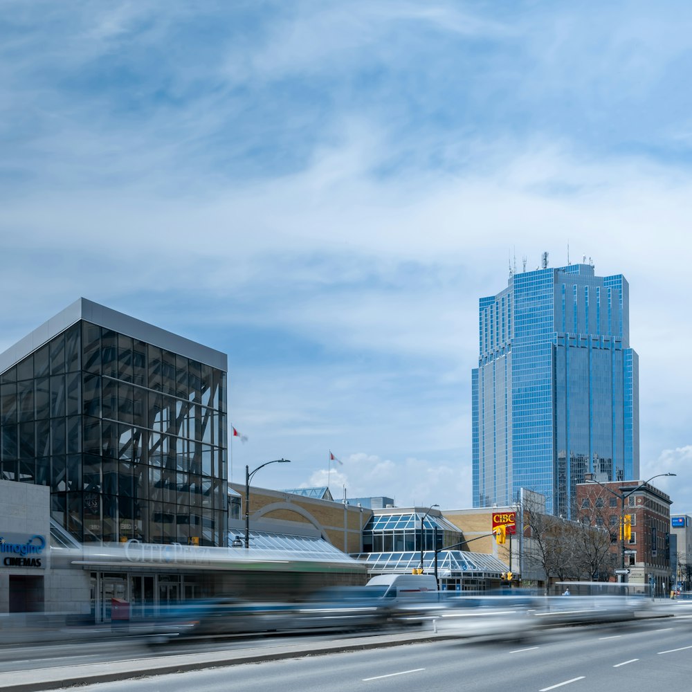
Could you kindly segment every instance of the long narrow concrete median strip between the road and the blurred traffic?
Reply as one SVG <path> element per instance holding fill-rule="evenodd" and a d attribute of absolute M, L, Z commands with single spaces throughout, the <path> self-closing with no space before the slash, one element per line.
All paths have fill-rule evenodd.
<path fill-rule="evenodd" d="M 102 662 L 55 668 L 39 668 L 35 671 L 12 671 L 0 673 L 0 692 L 39 692 L 55 690 L 74 685 L 95 684 L 128 680 L 144 675 L 167 675 L 197 671 L 203 668 L 237 666 L 245 663 L 261 663 L 305 655 L 334 653 L 336 651 L 358 651 L 401 644 L 421 644 L 437 639 L 452 639 L 438 635 L 432 628 L 397 634 L 375 635 L 372 637 L 353 637 L 336 641 L 300 641 L 294 644 L 275 644 L 254 646 L 237 650 L 215 651 L 212 653 L 190 653 L 175 657 L 150 657 L 118 662 Z M 233 644 L 229 644 L 233 646 Z"/>

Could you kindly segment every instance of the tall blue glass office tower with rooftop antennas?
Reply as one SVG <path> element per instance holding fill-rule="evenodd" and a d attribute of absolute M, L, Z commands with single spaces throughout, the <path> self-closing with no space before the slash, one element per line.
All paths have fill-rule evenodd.
<path fill-rule="evenodd" d="M 576 483 L 639 476 L 638 357 L 622 275 L 590 264 L 514 273 L 479 305 L 473 506 L 518 489 L 572 515 Z"/>

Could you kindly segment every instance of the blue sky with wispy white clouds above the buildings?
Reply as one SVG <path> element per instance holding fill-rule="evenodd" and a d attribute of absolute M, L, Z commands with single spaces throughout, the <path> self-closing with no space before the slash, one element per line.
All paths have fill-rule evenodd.
<path fill-rule="evenodd" d="M 478 299 L 569 252 L 630 284 L 640 476 L 692 511 L 691 21 L 5 0 L 0 351 L 89 298 L 228 354 L 234 481 L 459 509 Z"/>

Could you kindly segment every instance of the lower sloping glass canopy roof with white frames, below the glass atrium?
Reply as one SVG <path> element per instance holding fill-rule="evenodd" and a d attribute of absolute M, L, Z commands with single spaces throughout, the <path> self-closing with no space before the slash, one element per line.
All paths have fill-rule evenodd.
<path fill-rule="evenodd" d="M 408 574 L 414 567 L 421 566 L 421 552 L 409 551 L 399 553 L 353 553 L 354 558 L 367 564 L 372 572 L 399 572 Z M 423 554 L 423 569 L 432 572 L 435 569 L 435 552 L 428 550 Z M 440 576 L 449 576 L 469 572 L 483 576 L 500 576 L 507 572 L 507 565 L 492 555 L 471 553 L 463 550 L 443 550 L 437 555 L 437 572 Z"/>

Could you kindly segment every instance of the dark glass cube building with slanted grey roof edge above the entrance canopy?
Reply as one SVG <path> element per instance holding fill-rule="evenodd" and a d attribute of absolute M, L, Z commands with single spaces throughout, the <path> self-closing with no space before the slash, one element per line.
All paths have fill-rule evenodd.
<path fill-rule="evenodd" d="M 0 354 L 0 473 L 83 543 L 228 545 L 226 354 L 84 298 Z"/>

